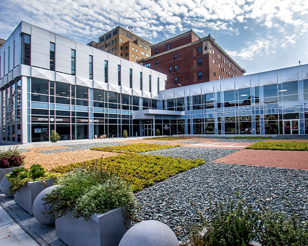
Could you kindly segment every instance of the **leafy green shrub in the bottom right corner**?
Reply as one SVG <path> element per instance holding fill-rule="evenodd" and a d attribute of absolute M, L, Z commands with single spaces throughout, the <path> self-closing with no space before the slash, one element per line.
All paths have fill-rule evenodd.
<path fill-rule="evenodd" d="M 258 241 L 262 246 L 304 246 L 308 245 L 308 223 L 303 223 L 301 216 L 291 213 L 273 211 L 271 208 L 262 208 L 258 228 Z"/>

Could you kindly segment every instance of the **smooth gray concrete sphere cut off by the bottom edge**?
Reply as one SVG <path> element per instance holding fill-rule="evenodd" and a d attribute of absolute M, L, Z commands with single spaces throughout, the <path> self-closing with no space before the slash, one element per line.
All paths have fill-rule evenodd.
<path fill-rule="evenodd" d="M 179 241 L 166 224 L 145 220 L 130 228 L 119 246 L 179 246 Z"/>

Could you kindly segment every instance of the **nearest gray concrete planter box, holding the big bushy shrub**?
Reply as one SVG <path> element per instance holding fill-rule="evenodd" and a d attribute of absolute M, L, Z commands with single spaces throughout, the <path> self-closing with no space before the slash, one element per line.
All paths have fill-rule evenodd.
<path fill-rule="evenodd" d="M 129 226 L 122 208 L 93 214 L 88 221 L 74 218 L 72 211 L 55 220 L 56 235 L 69 246 L 118 246 Z"/>

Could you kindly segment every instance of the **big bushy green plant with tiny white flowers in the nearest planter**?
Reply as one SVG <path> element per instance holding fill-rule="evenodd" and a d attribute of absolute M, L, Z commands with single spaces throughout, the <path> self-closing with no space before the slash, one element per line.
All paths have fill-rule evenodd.
<path fill-rule="evenodd" d="M 43 198 L 44 204 L 52 207 L 52 211 L 45 212 L 54 213 L 54 218 L 73 210 L 75 218 L 88 220 L 91 214 L 134 206 L 134 196 L 129 186 L 102 169 L 76 169 L 61 176 L 57 185 L 61 186 Z"/>

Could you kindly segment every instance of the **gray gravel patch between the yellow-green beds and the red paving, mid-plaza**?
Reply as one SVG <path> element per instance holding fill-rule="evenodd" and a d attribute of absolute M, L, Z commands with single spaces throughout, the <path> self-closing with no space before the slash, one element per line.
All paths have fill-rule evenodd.
<path fill-rule="evenodd" d="M 143 152 L 140 154 L 146 155 L 161 155 L 179 157 L 185 160 L 188 159 L 203 159 L 205 162 L 213 161 L 223 156 L 239 151 L 239 149 L 211 149 L 211 148 L 195 148 L 195 147 L 176 147 L 163 150 L 155 150 Z"/>

